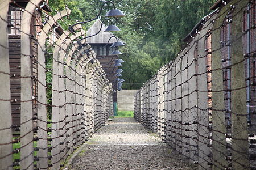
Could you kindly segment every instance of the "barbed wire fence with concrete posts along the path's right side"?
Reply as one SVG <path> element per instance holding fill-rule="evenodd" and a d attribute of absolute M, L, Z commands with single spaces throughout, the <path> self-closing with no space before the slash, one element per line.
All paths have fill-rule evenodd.
<path fill-rule="evenodd" d="M 198 169 L 256 169 L 255 1 L 222 2 L 134 96 L 134 117 Z"/>

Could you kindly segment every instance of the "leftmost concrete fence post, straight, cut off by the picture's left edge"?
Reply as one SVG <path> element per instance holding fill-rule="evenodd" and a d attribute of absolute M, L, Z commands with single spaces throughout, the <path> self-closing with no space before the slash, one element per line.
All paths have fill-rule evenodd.
<path fill-rule="evenodd" d="M 11 141 L 11 91 L 10 91 L 10 69 L 9 69 L 9 45 L 8 45 L 8 23 L 7 20 L 9 1 L 0 1 L 0 169 L 13 169 L 13 146 Z M 7 143 L 7 144 L 5 144 Z"/>

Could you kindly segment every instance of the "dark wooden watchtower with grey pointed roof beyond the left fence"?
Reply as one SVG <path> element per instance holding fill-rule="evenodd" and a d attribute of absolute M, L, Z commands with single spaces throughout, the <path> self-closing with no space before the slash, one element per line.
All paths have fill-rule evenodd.
<path fill-rule="evenodd" d="M 106 26 L 102 24 L 102 28 L 101 28 L 101 24 L 102 24 L 101 20 L 97 19 L 96 22 L 94 22 L 94 24 L 92 25 L 92 27 L 88 29 L 88 31 L 86 32 L 86 36 L 92 36 L 92 35 L 95 35 L 98 31 L 100 32 L 96 36 L 88 37 L 86 39 L 86 42 L 92 46 L 92 49 L 95 51 L 97 55 L 98 61 L 100 61 L 102 65 L 102 69 L 107 74 L 107 78 L 110 80 L 110 82 L 112 82 L 113 90 L 116 91 L 113 94 L 113 102 L 117 103 L 118 90 L 117 90 L 117 81 L 115 80 L 117 78 L 115 77 L 115 71 L 117 70 L 117 67 L 114 67 L 114 60 L 117 59 L 118 57 L 109 56 L 109 54 L 112 53 L 114 50 L 114 48 L 111 48 L 110 46 L 117 40 L 114 37 L 112 37 L 114 36 L 113 33 L 104 32 L 106 29 Z M 112 39 L 110 39 L 110 37 L 112 37 Z M 118 39 L 118 41 L 123 42 L 120 39 Z M 106 47 L 104 48 L 104 46 Z M 100 49 L 100 50 L 97 50 L 97 49 Z"/>

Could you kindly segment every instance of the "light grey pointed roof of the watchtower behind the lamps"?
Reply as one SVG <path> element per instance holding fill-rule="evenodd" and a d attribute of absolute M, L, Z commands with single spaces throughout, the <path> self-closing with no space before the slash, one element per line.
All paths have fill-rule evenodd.
<path fill-rule="evenodd" d="M 86 31 L 86 36 L 91 36 L 91 35 L 96 34 L 100 30 L 101 24 L 102 24 L 101 20 L 97 19 L 96 22 L 93 23 L 92 27 L 90 27 L 88 29 L 88 31 Z M 107 44 L 109 41 L 109 38 L 114 35 L 111 32 L 104 32 L 105 29 L 106 29 L 106 26 L 104 24 L 102 24 L 100 33 L 98 33 L 96 36 L 87 38 L 86 42 L 88 44 Z M 118 41 L 123 42 L 121 39 L 118 39 Z M 116 40 L 115 40 L 115 38 L 112 38 L 112 39 L 110 39 L 109 44 L 113 44 L 114 42 L 116 42 Z M 125 43 L 125 42 L 123 42 L 123 43 Z"/>

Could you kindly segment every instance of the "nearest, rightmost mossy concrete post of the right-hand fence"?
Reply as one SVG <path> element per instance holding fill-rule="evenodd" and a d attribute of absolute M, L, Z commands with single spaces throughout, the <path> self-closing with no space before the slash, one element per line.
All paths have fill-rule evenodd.
<path fill-rule="evenodd" d="M 236 1 L 236 2 L 238 2 L 238 5 L 234 10 L 235 14 L 236 12 L 243 10 L 243 8 L 247 4 L 246 1 Z M 255 3 L 254 3 L 253 10 L 255 15 Z M 255 16 L 254 16 L 254 19 L 255 19 Z M 249 131 L 247 126 L 247 111 L 246 111 L 247 107 L 245 105 L 246 90 L 243 88 L 245 87 L 245 66 L 244 66 L 244 63 L 241 62 L 244 59 L 243 46 L 241 45 L 243 44 L 242 31 L 241 31 L 243 29 L 242 28 L 243 15 L 242 14 L 234 15 L 232 20 L 235 20 L 239 23 L 239 24 L 236 22 L 231 23 L 231 28 L 232 28 L 231 39 L 237 40 L 232 42 L 231 63 L 232 64 L 238 63 L 237 65 L 233 65 L 231 69 L 231 88 L 239 89 L 239 90 L 233 90 L 231 95 L 232 168 L 249 170 L 251 168 L 250 168 L 250 161 L 249 161 L 249 143 L 248 143 Z"/>

